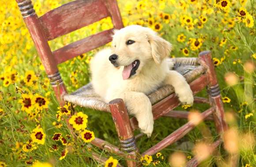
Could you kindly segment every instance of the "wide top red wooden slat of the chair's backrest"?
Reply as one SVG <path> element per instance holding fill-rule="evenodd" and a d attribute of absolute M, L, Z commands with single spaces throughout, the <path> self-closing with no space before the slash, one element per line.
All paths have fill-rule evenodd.
<path fill-rule="evenodd" d="M 53 40 L 109 15 L 103 0 L 75 0 L 47 12 L 39 19 L 47 40 Z"/>

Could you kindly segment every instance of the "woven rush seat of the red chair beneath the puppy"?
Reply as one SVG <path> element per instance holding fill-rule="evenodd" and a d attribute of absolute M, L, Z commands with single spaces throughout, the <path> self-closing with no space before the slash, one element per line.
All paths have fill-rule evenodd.
<path fill-rule="evenodd" d="M 172 58 L 172 61 L 174 63 L 173 70 L 181 73 L 188 83 L 192 82 L 206 71 L 205 67 L 200 65 L 198 58 Z M 173 86 L 165 85 L 148 95 L 148 98 L 151 104 L 154 105 L 172 93 L 174 93 Z M 105 103 L 102 98 L 94 92 L 91 83 L 79 88 L 71 94 L 65 94 L 64 100 L 86 108 L 110 112 L 109 104 Z"/>

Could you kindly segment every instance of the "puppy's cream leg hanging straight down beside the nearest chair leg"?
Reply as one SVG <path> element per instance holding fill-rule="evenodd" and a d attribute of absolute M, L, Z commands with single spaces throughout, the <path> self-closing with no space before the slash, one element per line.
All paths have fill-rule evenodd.
<path fill-rule="evenodd" d="M 154 120 L 149 98 L 141 92 L 129 91 L 123 94 L 123 99 L 128 113 L 136 117 L 141 131 L 150 137 L 154 128 Z"/>

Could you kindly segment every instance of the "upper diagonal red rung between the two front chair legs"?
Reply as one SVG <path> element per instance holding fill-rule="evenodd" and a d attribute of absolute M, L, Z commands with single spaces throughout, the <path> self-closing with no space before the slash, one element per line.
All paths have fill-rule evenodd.
<path fill-rule="evenodd" d="M 204 120 L 207 116 L 211 115 L 215 111 L 214 107 L 211 107 L 210 109 L 207 109 L 203 113 L 201 113 L 201 119 Z M 188 123 L 185 123 L 182 127 L 174 131 L 173 133 L 169 134 L 166 138 L 164 138 L 162 141 L 158 142 L 158 144 L 154 145 L 147 151 L 143 152 L 142 155 L 154 155 L 158 151 L 166 148 L 168 145 L 173 144 L 177 140 L 181 139 L 184 135 L 186 135 L 189 131 L 191 131 L 195 125 L 189 121 Z"/>

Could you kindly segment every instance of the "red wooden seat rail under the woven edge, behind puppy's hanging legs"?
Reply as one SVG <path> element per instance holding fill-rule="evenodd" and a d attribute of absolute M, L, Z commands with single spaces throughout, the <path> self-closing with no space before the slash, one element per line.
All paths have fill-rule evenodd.
<path fill-rule="evenodd" d="M 189 85 L 191 90 L 193 91 L 193 94 L 196 94 L 202 91 L 207 84 L 208 84 L 207 76 L 206 74 L 203 74 L 196 80 L 192 81 Z M 152 113 L 154 116 L 154 120 L 157 120 L 162 115 L 169 113 L 169 111 L 173 110 L 178 105 L 180 105 L 180 101 L 175 93 L 164 98 L 162 101 L 152 106 Z M 136 120 L 136 118 L 132 117 L 130 121 L 132 124 L 132 129 L 133 130 L 138 129 L 138 121 Z"/>

